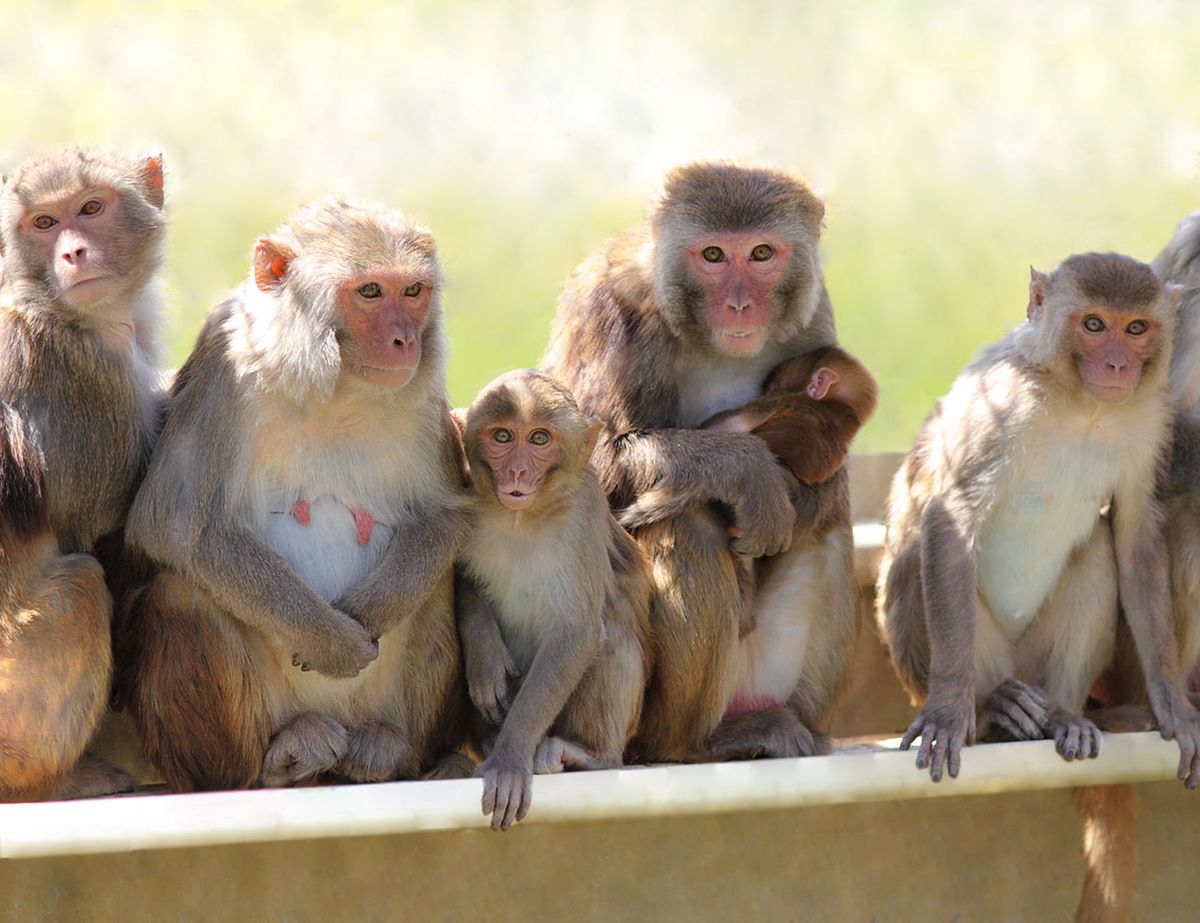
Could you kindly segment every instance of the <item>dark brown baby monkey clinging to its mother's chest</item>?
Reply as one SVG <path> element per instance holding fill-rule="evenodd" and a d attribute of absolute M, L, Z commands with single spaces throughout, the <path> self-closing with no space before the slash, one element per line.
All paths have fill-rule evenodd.
<path fill-rule="evenodd" d="M 836 346 L 785 360 L 763 396 L 704 421 L 703 428 L 751 432 L 809 486 L 829 480 L 875 413 L 878 386 L 866 366 Z"/>

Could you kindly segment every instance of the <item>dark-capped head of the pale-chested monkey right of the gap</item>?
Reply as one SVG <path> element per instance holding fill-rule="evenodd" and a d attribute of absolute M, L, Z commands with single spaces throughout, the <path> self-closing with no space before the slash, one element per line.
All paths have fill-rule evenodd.
<path fill-rule="evenodd" d="M 1018 346 L 1058 382 L 1124 403 L 1165 382 L 1180 289 L 1118 253 L 1068 257 L 1050 275 L 1030 269 L 1028 320 Z"/>

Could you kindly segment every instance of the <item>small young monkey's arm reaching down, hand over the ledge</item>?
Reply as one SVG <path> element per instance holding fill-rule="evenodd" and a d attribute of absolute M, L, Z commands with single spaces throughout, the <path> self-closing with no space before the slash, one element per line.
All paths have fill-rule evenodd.
<path fill-rule="evenodd" d="M 600 612 L 564 612 L 538 648 L 491 755 L 479 767 L 484 814 L 508 829 L 529 813 L 538 744 L 583 679 L 601 645 Z"/>

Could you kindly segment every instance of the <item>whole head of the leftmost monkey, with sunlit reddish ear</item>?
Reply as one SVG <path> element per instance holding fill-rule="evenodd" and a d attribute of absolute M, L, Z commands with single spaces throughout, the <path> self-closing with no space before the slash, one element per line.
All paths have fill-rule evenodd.
<path fill-rule="evenodd" d="M 25 161 L 0 193 L 0 254 L 16 290 L 84 317 L 116 308 L 158 272 L 162 156 L 71 149 Z"/>

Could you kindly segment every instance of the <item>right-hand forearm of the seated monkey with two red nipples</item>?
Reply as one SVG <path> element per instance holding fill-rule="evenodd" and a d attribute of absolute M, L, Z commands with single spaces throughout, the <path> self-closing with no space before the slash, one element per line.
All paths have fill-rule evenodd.
<path fill-rule="evenodd" d="M 470 514 L 455 497 L 408 513 L 379 563 L 334 606 L 378 640 L 425 605 L 454 567 L 469 531 Z"/>

